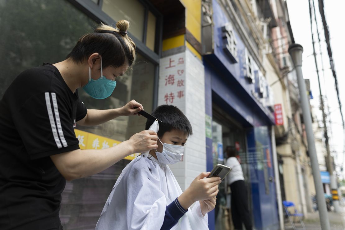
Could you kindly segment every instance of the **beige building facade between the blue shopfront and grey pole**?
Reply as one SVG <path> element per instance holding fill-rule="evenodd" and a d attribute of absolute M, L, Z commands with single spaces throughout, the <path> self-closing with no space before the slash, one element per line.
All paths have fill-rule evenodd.
<path fill-rule="evenodd" d="M 306 133 L 300 105 L 297 75 L 288 53 L 289 44 L 294 37 L 289 22 L 286 1 L 270 1 L 277 21 L 272 29 L 273 55 L 280 71 L 280 81 L 284 86 L 284 110 L 286 126 L 276 128 L 276 144 L 279 161 L 280 185 L 282 200 L 293 201 L 297 209 L 307 216 L 313 212 L 312 196 L 315 194 L 311 164 L 308 156 Z M 306 81 L 307 86 L 308 81 Z M 282 91 L 282 89 L 276 88 Z M 311 96 L 308 89 L 306 92 Z M 278 96 L 279 97 L 281 95 Z M 312 96 L 310 97 L 312 98 Z"/>

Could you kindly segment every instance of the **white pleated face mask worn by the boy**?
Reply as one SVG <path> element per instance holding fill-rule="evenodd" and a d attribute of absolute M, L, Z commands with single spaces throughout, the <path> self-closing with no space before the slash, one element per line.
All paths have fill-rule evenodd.
<path fill-rule="evenodd" d="M 163 164 L 175 164 L 181 160 L 183 152 L 185 151 L 184 146 L 167 143 L 163 144 L 161 141 L 160 143 L 163 145 L 162 152 L 158 152 L 156 149 L 156 156 L 159 162 Z"/>

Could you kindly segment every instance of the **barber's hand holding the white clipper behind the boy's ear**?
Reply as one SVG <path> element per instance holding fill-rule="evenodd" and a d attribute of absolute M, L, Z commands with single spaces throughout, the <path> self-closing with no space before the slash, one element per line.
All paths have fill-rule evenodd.
<path fill-rule="evenodd" d="M 144 130 L 134 134 L 128 142 L 133 148 L 133 153 L 146 152 L 151 149 L 157 149 L 157 133 L 152 130 Z"/>

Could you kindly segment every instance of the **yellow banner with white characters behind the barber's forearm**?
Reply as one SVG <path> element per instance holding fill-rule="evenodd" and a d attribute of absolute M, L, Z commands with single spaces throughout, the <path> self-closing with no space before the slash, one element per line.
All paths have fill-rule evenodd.
<path fill-rule="evenodd" d="M 75 129 L 74 132 L 76 133 L 76 137 L 79 140 L 79 147 L 80 149 L 107 149 L 109 147 L 116 146 L 117 144 L 121 143 L 121 141 L 113 140 L 110 138 L 102 137 L 90 132 L 81 131 Z M 134 153 L 125 157 L 126 160 L 133 160 L 140 153 Z"/>

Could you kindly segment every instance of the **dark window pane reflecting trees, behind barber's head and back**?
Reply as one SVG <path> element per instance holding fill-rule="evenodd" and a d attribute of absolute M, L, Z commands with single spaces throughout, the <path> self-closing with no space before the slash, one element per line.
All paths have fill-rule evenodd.
<path fill-rule="evenodd" d="M 0 21 L 0 99 L 20 72 L 64 60 L 95 25 L 66 0 L 1 1 Z"/>

